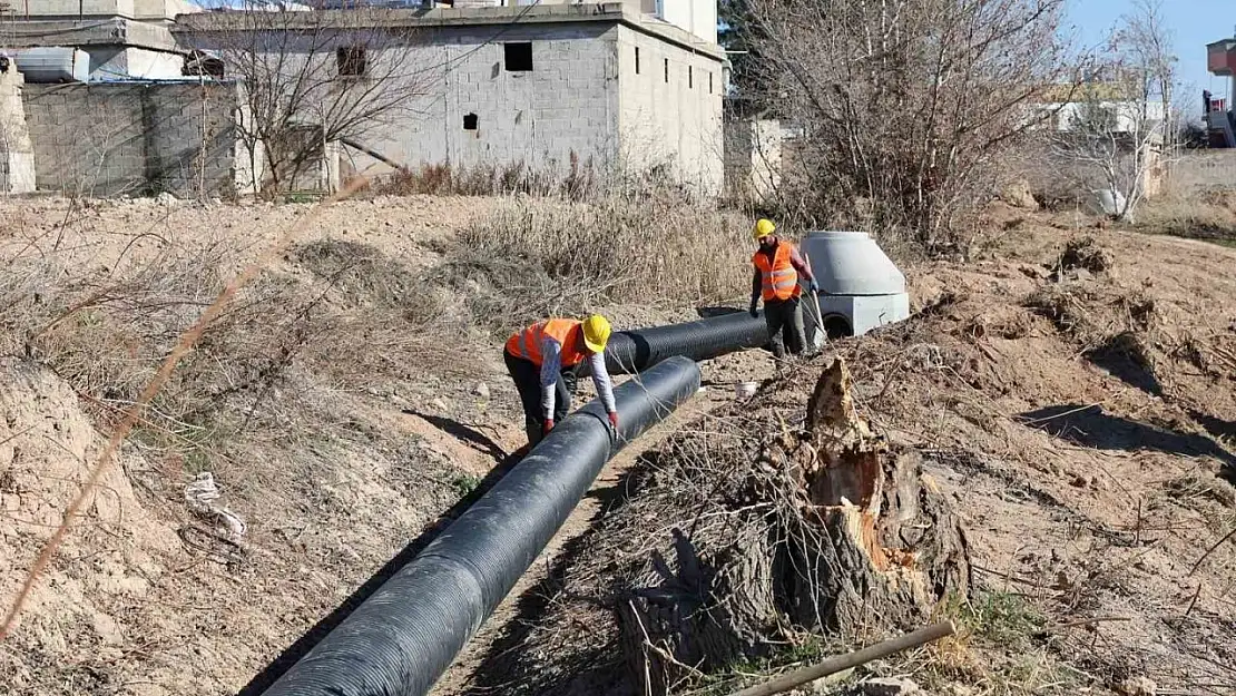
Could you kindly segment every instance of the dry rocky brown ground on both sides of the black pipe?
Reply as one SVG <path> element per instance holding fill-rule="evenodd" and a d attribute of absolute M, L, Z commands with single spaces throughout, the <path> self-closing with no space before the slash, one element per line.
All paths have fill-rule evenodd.
<path fill-rule="evenodd" d="M 272 659 L 475 494 L 522 425 L 501 326 L 476 315 L 498 304 L 470 304 L 442 261 L 450 240 L 510 205 L 5 202 L 6 603 L 176 336 L 247 263 L 266 267 L 105 470 L 0 643 L 6 692 L 256 694 Z M 1229 692 L 1236 252 L 1047 214 L 1000 210 L 991 225 L 1000 234 L 976 261 L 907 268 L 911 321 L 784 378 L 761 352 L 706 366 L 705 394 L 613 464 L 436 692 L 510 692 L 527 670 L 612 648 L 606 598 L 576 593 L 571 569 L 633 543 L 607 537 L 629 507 L 613 491 L 623 472 L 653 466 L 641 455 L 670 435 L 716 433 L 735 408 L 768 428 L 801 419 L 837 355 L 860 412 L 922 451 L 950 497 L 978 586 L 962 612 L 971 634 L 873 674 L 953 694 L 1136 679 L 1159 694 Z M 603 309 L 649 325 L 692 304 Z M 735 407 L 733 383 L 747 380 L 764 388 Z M 224 493 L 214 504 L 247 527 L 240 540 L 187 501 L 206 471 Z M 648 541 L 674 522 L 654 520 Z M 586 619 L 571 628 L 567 616 Z M 529 660 L 498 659 L 510 653 Z"/>

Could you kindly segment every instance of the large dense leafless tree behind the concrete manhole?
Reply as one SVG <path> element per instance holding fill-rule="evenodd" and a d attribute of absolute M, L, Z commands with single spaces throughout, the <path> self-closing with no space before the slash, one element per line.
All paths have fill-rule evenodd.
<path fill-rule="evenodd" d="M 803 130 L 806 224 L 952 247 L 1001 156 L 1051 117 L 1037 94 L 1075 82 L 1064 0 L 743 1 L 759 46 L 745 88 Z"/>

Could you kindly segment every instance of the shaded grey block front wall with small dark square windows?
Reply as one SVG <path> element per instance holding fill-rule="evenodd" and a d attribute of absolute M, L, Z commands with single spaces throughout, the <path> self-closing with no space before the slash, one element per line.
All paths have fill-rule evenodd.
<path fill-rule="evenodd" d="M 614 32 L 612 26 L 513 26 L 493 42 L 489 27 L 439 30 L 431 42 L 394 58 L 407 66 L 400 72 L 418 73 L 423 95 L 360 140 L 410 168 L 522 163 L 565 173 L 574 155 L 581 164 L 607 169 L 618 151 Z M 507 43 L 531 43 L 531 70 L 507 69 Z M 470 115 L 475 130 L 465 129 Z M 350 158 L 357 171 L 388 169 L 361 153 Z"/>

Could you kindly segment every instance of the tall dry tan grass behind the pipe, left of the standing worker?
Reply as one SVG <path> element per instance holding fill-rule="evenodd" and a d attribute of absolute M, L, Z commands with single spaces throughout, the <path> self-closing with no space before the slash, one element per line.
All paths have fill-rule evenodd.
<path fill-rule="evenodd" d="M 669 192 L 590 204 L 523 203 L 482 219 L 445 251 L 477 324 L 604 304 L 691 307 L 745 298 L 749 223 Z"/>

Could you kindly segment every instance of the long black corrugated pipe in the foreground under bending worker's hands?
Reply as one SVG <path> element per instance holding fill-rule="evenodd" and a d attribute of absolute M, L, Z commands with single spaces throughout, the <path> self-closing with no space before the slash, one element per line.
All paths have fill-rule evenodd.
<path fill-rule="evenodd" d="M 671 357 L 614 389 L 622 414 L 617 434 L 597 401 L 566 417 L 263 696 L 426 694 L 606 461 L 698 389 L 695 361 Z"/>

